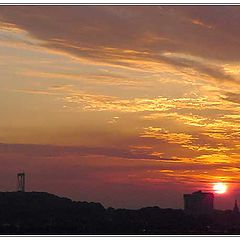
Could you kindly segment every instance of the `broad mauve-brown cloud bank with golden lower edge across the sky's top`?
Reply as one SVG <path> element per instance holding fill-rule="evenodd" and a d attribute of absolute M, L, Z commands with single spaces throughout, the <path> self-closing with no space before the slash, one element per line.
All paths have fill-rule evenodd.
<path fill-rule="evenodd" d="M 137 67 L 135 61 L 144 60 L 148 65 L 164 62 L 235 82 L 217 61 L 240 60 L 234 41 L 236 8 L 215 7 L 210 13 L 197 7 L 31 7 L 30 14 L 28 7 L 2 7 L 0 16 L 8 28 L 17 26 L 41 39 L 42 45 L 80 58 L 129 67 Z M 219 18 L 221 13 L 227 13 L 231 28 Z M 51 24 L 48 16 L 52 16 Z M 148 21 L 143 21 L 145 17 Z M 163 55 L 165 52 L 190 57 L 170 58 Z M 195 57 L 202 61 L 195 61 Z"/>

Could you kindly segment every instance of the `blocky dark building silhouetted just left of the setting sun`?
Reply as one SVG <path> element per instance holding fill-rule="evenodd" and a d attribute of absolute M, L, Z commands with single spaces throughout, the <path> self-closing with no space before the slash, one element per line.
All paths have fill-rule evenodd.
<path fill-rule="evenodd" d="M 197 191 L 184 194 L 184 210 L 189 214 L 210 214 L 214 209 L 214 194 Z"/>

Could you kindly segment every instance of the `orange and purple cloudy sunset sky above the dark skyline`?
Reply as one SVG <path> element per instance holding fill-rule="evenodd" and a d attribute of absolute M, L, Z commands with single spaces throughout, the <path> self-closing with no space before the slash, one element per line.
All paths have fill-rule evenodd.
<path fill-rule="evenodd" d="M 240 6 L 0 6 L 0 191 L 105 207 L 240 200 Z"/>

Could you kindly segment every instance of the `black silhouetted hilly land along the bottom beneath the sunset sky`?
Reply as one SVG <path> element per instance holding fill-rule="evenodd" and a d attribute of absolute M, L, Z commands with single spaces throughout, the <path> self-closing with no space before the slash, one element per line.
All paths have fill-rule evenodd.
<path fill-rule="evenodd" d="M 105 209 L 45 192 L 0 192 L 0 234 L 240 234 L 240 216 L 148 207 Z"/>

